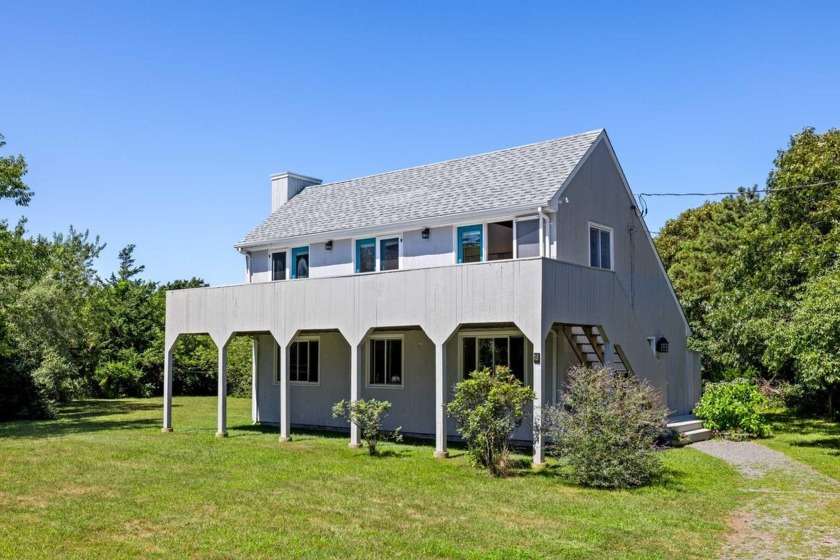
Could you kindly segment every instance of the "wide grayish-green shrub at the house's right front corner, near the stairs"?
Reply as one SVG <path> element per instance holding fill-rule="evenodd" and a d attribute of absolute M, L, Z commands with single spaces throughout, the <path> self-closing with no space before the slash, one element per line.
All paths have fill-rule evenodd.
<path fill-rule="evenodd" d="M 646 381 L 606 368 L 575 367 L 561 402 L 543 411 L 549 454 L 571 480 L 599 488 L 632 488 L 662 469 L 655 442 L 668 409 Z"/>

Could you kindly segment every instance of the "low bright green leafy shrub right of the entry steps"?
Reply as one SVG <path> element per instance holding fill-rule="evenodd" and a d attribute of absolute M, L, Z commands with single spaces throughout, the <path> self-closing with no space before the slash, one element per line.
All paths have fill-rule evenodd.
<path fill-rule="evenodd" d="M 758 387 L 746 379 L 707 383 L 694 414 L 703 426 L 727 437 L 765 437 L 770 426 L 759 413 L 767 399 Z"/>

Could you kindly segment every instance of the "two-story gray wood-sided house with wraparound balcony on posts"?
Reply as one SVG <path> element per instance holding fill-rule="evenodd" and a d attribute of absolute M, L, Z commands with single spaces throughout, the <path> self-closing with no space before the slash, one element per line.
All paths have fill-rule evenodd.
<path fill-rule="evenodd" d="M 241 285 L 167 293 L 164 430 L 172 349 L 208 333 L 254 340 L 253 420 L 342 428 L 341 399 L 393 403 L 386 428 L 457 434 L 453 385 L 504 364 L 545 403 L 577 363 L 650 380 L 675 413 L 699 397 L 699 356 L 604 130 L 322 184 L 271 177 L 271 214 L 236 248 Z M 544 461 L 534 438 L 534 462 Z M 350 433 L 359 445 L 359 433 Z"/>

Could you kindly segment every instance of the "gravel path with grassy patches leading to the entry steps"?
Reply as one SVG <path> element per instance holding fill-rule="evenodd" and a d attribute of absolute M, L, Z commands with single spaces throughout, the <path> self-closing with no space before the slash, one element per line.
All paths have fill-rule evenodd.
<path fill-rule="evenodd" d="M 840 482 L 752 442 L 709 440 L 694 449 L 744 475 L 721 558 L 840 560 Z"/>

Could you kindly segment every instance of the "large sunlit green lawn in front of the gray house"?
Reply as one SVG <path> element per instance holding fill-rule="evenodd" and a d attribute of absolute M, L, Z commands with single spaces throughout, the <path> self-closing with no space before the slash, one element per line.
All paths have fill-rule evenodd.
<path fill-rule="evenodd" d="M 666 479 L 587 490 L 554 468 L 493 479 L 463 450 L 389 445 L 252 426 L 213 398 L 74 403 L 58 420 L 0 424 L 0 558 L 709 558 L 738 476 L 690 448 L 664 453 Z"/>

